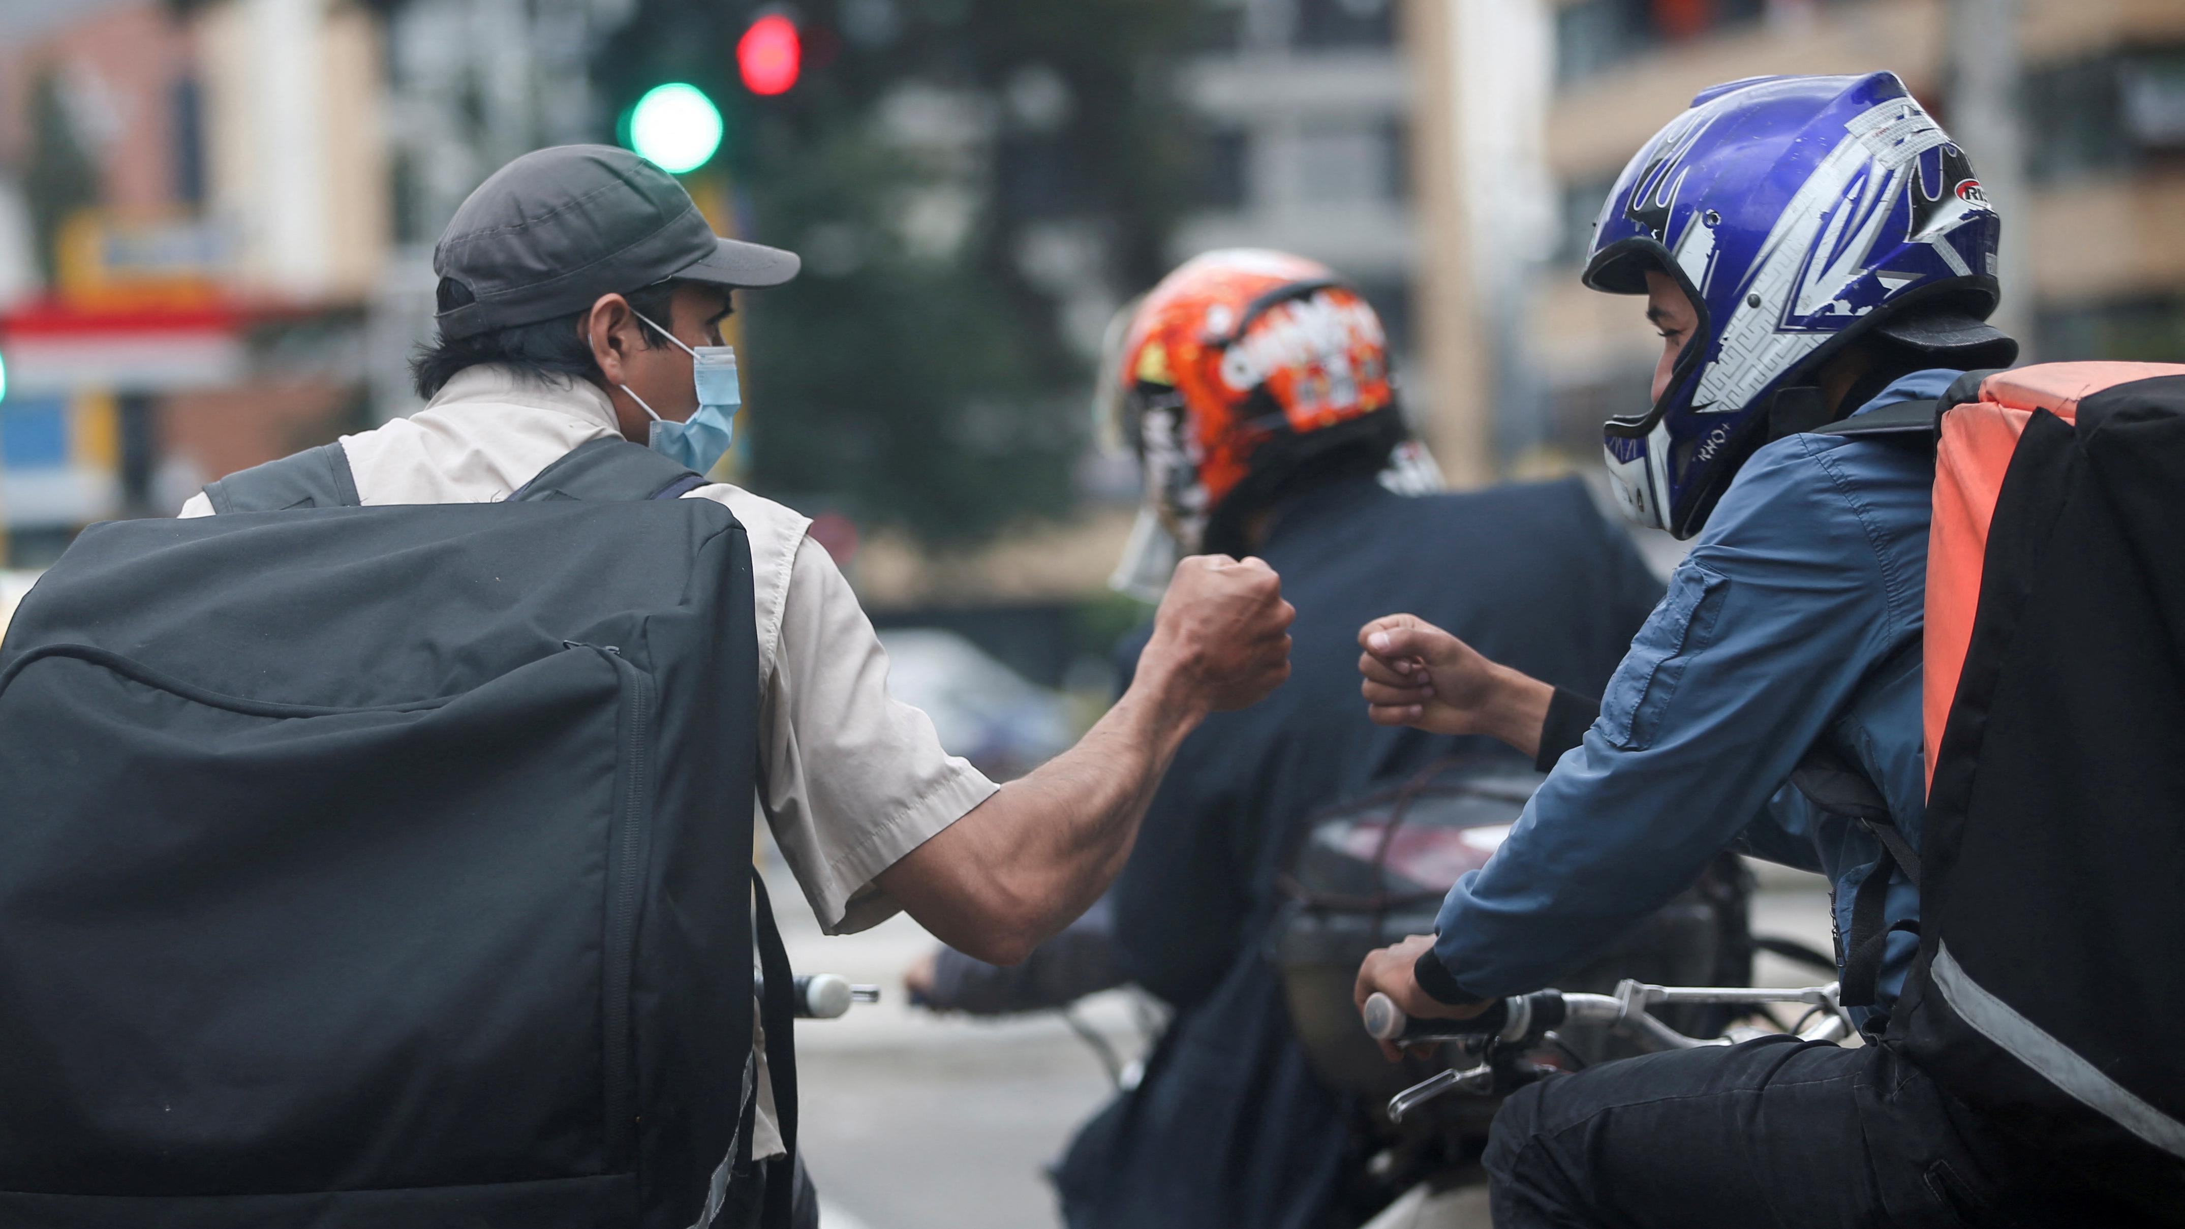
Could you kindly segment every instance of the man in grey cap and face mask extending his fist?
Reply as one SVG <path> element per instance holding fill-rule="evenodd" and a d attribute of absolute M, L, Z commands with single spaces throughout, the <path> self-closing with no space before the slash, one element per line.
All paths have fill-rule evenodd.
<path fill-rule="evenodd" d="M 430 405 L 339 444 L 363 505 L 503 501 L 614 437 L 704 475 L 741 400 L 719 335 L 730 295 L 787 282 L 798 258 L 717 238 L 631 153 L 559 147 L 479 186 L 433 267 L 439 339 L 413 363 Z M 728 505 L 749 536 L 758 805 L 828 934 L 905 910 L 961 951 L 1020 960 L 1123 866 L 1182 737 L 1289 674 L 1274 571 L 1184 560 L 1132 689 L 1077 748 L 996 787 L 889 698 L 881 643 L 804 516 L 728 483 L 684 499 Z M 210 512 L 205 494 L 184 507 Z M 778 1157 L 769 1082 L 754 1082 L 752 1155 Z"/>

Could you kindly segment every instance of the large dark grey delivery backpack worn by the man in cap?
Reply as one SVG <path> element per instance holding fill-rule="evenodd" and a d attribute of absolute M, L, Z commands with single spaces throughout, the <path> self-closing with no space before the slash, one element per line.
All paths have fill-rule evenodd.
<path fill-rule="evenodd" d="M 0 645 L 0 1225 L 710 1225 L 754 938 L 793 1148 L 697 481 L 605 440 L 350 507 L 336 444 L 83 531 Z"/>

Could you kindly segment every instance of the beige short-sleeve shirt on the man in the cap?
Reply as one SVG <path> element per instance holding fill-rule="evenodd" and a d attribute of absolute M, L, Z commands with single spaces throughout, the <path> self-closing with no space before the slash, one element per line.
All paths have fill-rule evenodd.
<path fill-rule="evenodd" d="M 415 415 L 343 435 L 341 448 L 365 505 L 492 503 L 577 444 L 616 433 L 614 407 L 590 383 L 481 365 Z M 900 905 L 874 877 L 996 787 L 942 750 L 924 713 L 887 693 L 887 652 L 835 560 L 806 536 L 811 520 L 728 483 L 684 499 L 725 503 L 752 540 L 758 807 L 773 842 L 828 934 L 878 925 Z M 212 503 L 197 494 L 181 514 L 210 516 Z M 758 1087 L 771 1111 L 767 1082 Z M 754 1144 L 760 1157 L 780 1150 L 771 1122 Z"/>

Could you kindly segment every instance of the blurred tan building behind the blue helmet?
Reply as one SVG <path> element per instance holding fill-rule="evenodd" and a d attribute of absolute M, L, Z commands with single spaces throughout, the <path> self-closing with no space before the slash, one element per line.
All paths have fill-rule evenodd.
<path fill-rule="evenodd" d="M 2001 317 L 2028 356 L 2185 359 L 2176 0 L 1416 0 L 1407 13 L 1422 348 L 1436 405 L 1488 407 L 1440 426 L 1471 433 L 1501 472 L 1591 468 L 1602 420 L 1645 398 L 1658 341 L 1632 302 L 1582 289 L 1578 265 L 1632 151 L 1739 77 L 1901 74 L 2006 219 Z"/>

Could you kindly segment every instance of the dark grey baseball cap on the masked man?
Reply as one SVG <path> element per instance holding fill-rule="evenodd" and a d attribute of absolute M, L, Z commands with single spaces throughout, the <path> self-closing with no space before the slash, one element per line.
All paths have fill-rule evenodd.
<path fill-rule="evenodd" d="M 433 247 L 439 335 L 535 324 L 669 278 L 778 286 L 780 247 L 721 238 L 673 175 L 612 144 L 557 144 L 509 162 L 454 210 Z"/>

